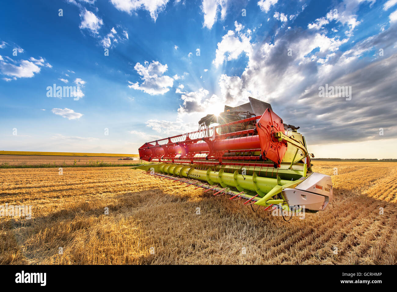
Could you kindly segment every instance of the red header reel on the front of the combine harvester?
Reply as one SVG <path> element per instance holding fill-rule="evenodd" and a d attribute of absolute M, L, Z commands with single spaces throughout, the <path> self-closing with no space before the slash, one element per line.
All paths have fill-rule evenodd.
<path fill-rule="evenodd" d="M 242 131 L 228 131 L 238 124 Z M 287 150 L 287 143 L 274 136 L 279 131 L 284 132 L 283 121 L 268 108 L 256 117 L 147 142 L 139 148 L 139 156 L 146 161 L 173 163 L 209 160 L 227 164 L 239 160 L 241 165 L 270 159 L 279 166 Z"/>

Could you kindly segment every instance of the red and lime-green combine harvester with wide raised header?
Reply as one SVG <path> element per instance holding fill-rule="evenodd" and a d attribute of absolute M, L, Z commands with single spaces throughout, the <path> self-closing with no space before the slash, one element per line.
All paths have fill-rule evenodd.
<path fill-rule="evenodd" d="M 313 213 L 328 207 L 331 177 L 312 172 L 314 155 L 299 127 L 283 123 L 270 104 L 250 97 L 198 123 L 198 131 L 142 145 L 140 158 L 156 163 L 134 168 L 268 211 Z"/>

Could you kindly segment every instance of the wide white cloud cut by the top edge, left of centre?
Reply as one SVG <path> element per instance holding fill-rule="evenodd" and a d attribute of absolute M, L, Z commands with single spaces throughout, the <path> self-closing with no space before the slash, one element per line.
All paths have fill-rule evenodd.
<path fill-rule="evenodd" d="M 131 14 L 143 9 L 150 13 L 150 17 L 156 21 L 158 14 L 166 8 L 169 0 L 110 0 L 114 7 L 120 11 Z"/>

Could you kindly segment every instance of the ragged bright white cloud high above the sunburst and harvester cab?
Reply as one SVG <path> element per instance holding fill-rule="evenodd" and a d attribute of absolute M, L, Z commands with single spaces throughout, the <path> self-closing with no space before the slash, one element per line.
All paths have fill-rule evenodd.
<path fill-rule="evenodd" d="M 237 21 L 235 21 L 234 24 L 236 27 L 235 30 L 228 31 L 227 34 L 222 37 L 222 41 L 218 42 L 215 59 L 212 61 L 216 67 L 222 65 L 225 60 L 230 61 L 237 59 L 243 52 L 247 55 L 252 54 L 250 31 L 242 33 L 244 27 L 237 23 Z"/>

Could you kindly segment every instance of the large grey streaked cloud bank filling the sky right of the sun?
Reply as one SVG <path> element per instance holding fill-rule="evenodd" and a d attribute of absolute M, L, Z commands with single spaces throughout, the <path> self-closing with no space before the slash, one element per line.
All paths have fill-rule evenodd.
<path fill-rule="evenodd" d="M 235 103 L 248 96 L 271 102 L 286 123 L 301 126 L 310 144 L 396 138 L 396 37 L 397 25 L 392 24 L 341 52 L 339 47 L 347 40 L 290 29 L 274 44 L 253 44 L 241 79 L 221 77 L 223 97 Z M 348 86 L 351 100 L 319 97 L 319 86 L 326 84 Z M 384 136 L 379 135 L 380 128 Z"/>

